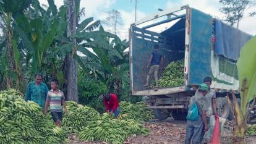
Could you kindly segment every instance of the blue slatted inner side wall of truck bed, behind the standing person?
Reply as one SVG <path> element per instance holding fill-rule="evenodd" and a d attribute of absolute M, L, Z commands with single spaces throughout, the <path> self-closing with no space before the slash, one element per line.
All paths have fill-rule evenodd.
<path fill-rule="evenodd" d="M 185 24 L 184 24 L 185 25 Z M 131 28 L 131 50 L 130 51 L 130 72 L 132 74 L 132 93 L 135 91 L 147 90 L 143 85 L 146 83 L 148 73 L 147 64 L 155 44 L 160 46 L 160 53 L 163 54 L 163 66 L 169 62 L 182 59 L 184 54 L 177 53 L 176 44 L 169 40 L 168 36 L 151 32 L 138 27 Z M 152 81 L 153 82 L 153 81 Z M 150 84 L 150 83 L 149 83 Z"/>

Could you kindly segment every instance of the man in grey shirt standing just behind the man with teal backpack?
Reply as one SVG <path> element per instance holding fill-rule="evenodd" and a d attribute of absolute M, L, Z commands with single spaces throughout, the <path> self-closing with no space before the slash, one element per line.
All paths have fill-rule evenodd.
<path fill-rule="evenodd" d="M 218 112 L 216 109 L 216 92 L 215 90 L 211 89 L 211 77 L 205 77 L 203 78 L 203 83 L 205 83 L 208 86 L 208 93 L 205 95 L 206 103 L 207 103 L 207 122 L 210 123 L 210 116 L 214 115 L 215 119 L 218 117 Z M 198 90 L 195 92 L 198 93 Z M 203 143 L 210 143 L 211 136 L 213 134 L 213 128 L 214 125 L 208 125 L 209 130 L 207 131 L 207 134 L 205 132 L 202 132 L 201 140 Z"/>

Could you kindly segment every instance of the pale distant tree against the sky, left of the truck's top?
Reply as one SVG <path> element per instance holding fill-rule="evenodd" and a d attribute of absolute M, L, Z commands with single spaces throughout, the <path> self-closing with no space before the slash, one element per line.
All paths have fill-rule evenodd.
<path fill-rule="evenodd" d="M 108 25 L 112 28 L 112 33 L 114 35 L 117 34 L 117 28 L 119 28 L 121 25 L 123 25 L 121 13 L 115 9 L 112 9 L 110 11 L 106 11 L 106 14 L 108 15 L 105 20 L 103 20 L 103 23 Z"/>

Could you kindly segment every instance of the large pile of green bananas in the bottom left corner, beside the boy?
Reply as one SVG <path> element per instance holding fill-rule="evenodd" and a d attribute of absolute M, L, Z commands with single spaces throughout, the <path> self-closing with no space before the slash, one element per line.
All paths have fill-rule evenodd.
<path fill-rule="evenodd" d="M 16 90 L 0 91 L 0 143 L 63 143 L 64 131 Z"/>

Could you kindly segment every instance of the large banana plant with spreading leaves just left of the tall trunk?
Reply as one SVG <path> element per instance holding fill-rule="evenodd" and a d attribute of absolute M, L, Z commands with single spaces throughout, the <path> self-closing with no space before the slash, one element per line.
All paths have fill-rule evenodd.
<path fill-rule="evenodd" d="M 33 9 L 30 7 L 26 14 L 15 22 L 15 32 L 27 51 L 27 62 L 32 60 L 30 74 L 43 70 L 43 60 L 49 49 L 54 48 L 53 41 L 58 33 L 66 30 L 66 7 L 56 9 L 53 0 L 48 0 L 48 9 L 42 9 L 38 1 L 34 1 Z M 54 51 L 55 52 L 55 51 Z M 57 53 L 57 52 L 56 52 Z"/>

